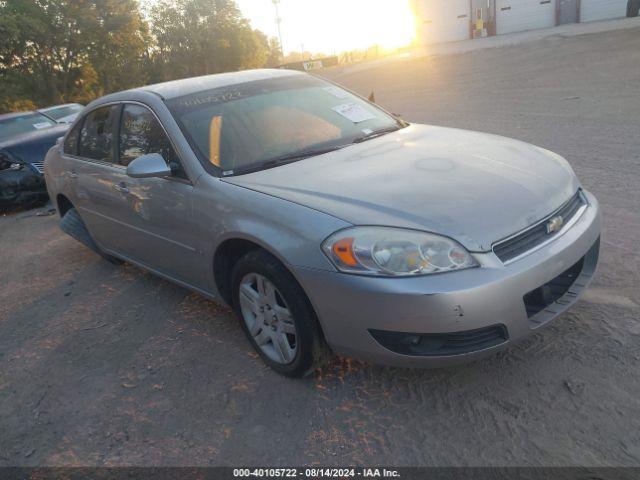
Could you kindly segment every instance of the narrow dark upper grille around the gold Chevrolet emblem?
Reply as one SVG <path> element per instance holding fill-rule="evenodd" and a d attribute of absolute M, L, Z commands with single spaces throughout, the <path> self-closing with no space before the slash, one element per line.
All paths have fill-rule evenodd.
<path fill-rule="evenodd" d="M 582 206 L 586 205 L 582 193 L 578 191 L 567 203 L 556 210 L 554 213 L 546 217 L 544 220 L 528 228 L 513 237 L 496 243 L 493 246 L 493 252 L 497 257 L 506 263 L 520 255 L 534 249 L 538 245 L 558 235 L 559 231 L 549 233 L 547 231 L 547 223 L 555 217 L 561 216 L 563 225 L 569 223 L 578 213 Z"/>

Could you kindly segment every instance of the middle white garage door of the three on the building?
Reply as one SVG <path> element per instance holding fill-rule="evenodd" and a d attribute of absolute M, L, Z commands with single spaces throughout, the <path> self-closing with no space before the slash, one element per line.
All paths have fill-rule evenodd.
<path fill-rule="evenodd" d="M 496 32 L 521 32 L 556 26 L 556 0 L 497 0 Z"/>

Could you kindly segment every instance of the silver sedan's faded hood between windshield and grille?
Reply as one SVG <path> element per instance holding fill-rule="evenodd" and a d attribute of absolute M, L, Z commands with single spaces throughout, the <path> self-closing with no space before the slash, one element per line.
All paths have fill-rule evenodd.
<path fill-rule="evenodd" d="M 476 252 L 541 220 L 579 187 L 548 150 L 425 125 L 224 180 L 354 225 L 447 235 Z"/>

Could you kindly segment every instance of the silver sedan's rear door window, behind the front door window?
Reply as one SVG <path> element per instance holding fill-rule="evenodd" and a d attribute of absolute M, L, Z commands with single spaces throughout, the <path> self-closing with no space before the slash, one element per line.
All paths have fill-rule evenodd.
<path fill-rule="evenodd" d="M 102 107 L 86 116 L 80 130 L 78 155 L 102 162 L 113 162 L 114 130 L 120 107 Z"/>

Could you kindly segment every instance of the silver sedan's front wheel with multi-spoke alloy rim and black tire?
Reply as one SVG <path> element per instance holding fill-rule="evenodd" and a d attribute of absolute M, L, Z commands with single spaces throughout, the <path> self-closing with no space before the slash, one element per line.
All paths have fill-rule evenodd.
<path fill-rule="evenodd" d="M 329 357 L 317 317 L 293 275 L 269 253 L 243 256 L 231 278 L 233 307 L 263 361 L 287 377 L 303 377 Z"/>

